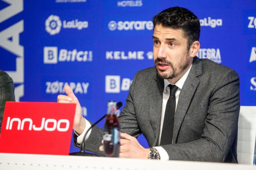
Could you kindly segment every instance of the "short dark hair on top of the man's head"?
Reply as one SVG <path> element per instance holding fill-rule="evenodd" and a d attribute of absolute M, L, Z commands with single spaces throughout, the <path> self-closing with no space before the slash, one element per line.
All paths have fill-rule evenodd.
<path fill-rule="evenodd" d="M 163 10 L 153 18 L 154 28 L 158 24 L 173 29 L 181 29 L 188 38 L 188 50 L 200 37 L 200 21 L 190 10 L 182 7 L 171 7 Z"/>

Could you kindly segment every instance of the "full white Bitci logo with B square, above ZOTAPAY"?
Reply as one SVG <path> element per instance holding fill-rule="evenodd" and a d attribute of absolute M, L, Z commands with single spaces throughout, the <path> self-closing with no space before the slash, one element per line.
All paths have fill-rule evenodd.
<path fill-rule="evenodd" d="M 93 59 L 92 51 L 78 51 L 60 49 L 58 57 L 58 47 L 44 47 L 43 48 L 43 63 L 57 64 L 57 62 L 91 62 Z"/>

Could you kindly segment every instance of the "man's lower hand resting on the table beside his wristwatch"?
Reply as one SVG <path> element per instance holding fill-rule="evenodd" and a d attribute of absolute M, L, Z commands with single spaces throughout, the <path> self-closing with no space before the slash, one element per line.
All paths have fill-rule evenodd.
<path fill-rule="evenodd" d="M 119 157 L 148 159 L 150 150 L 142 147 L 135 137 L 128 135 L 127 133 L 120 133 L 120 137 Z M 100 146 L 99 150 L 104 151 L 104 146 Z"/>

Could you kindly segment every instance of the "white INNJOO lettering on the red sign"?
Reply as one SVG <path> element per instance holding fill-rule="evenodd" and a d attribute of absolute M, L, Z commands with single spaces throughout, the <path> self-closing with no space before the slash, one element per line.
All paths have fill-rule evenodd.
<path fill-rule="evenodd" d="M 29 122 L 29 130 L 35 130 L 35 131 L 41 131 L 45 129 L 46 131 L 54 131 L 58 130 L 59 132 L 66 132 L 69 129 L 69 120 L 68 119 L 46 119 L 42 118 L 41 126 L 36 127 L 36 125 L 33 125 L 33 120 L 30 118 L 24 118 L 23 120 L 20 120 L 19 118 L 7 118 L 7 124 L 6 124 L 6 130 L 12 130 L 13 122 L 18 122 L 17 130 L 23 130 L 24 129 L 24 123 Z M 53 123 L 52 127 L 48 127 L 48 123 Z M 60 128 L 60 124 L 65 123 L 65 128 Z"/>

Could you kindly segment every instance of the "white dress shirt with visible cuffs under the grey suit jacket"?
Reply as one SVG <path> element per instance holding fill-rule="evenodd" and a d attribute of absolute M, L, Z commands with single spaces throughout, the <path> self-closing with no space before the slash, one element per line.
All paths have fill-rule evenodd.
<path fill-rule="evenodd" d="M 190 66 L 190 68 L 188 69 L 188 71 L 175 83 L 175 84 L 171 84 L 167 79 L 164 79 L 164 91 L 163 91 L 163 104 L 162 104 L 162 116 L 161 116 L 161 126 L 160 126 L 160 135 L 159 135 L 159 139 L 158 139 L 158 145 L 160 145 L 160 140 L 161 140 L 161 134 L 162 134 L 162 129 L 163 129 L 163 124 L 164 124 L 164 113 L 165 113 L 165 107 L 166 107 L 166 103 L 169 99 L 170 96 L 170 88 L 167 88 L 167 86 L 169 84 L 171 85 L 176 85 L 178 87 L 177 91 L 175 92 L 175 98 L 176 98 L 176 106 L 175 106 L 175 110 L 177 108 L 177 103 L 178 103 L 178 99 L 180 96 L 180 91 L 184 85 L 184 82 L 187 79 L 188 73 L 190 72 L 192 65 Z M 85 119 L 86 120 L 86 119 Z M 77 143 L 79 145 L 82 144 L 83 141 L 83 136 L 85 135 L 85 132 L 91 127 L 91 124 L 88 122 L 88 120 L 86 120 L 86 127 L 85 130 L 83 131 L 83 133 L 81 135 L 79 135 L 77 137 Z M 88 137 L 91 134 L 91 130 L 89 130 L 89 132 L 87 133 L 85 140 L 88 139 Z M 76 132 L 75 132 L 76 133 Z M 76 133 L 76 135 L 78 135 Z M 161 160 L 169 160 L 169 156 L 168 153 L 164 150 L 163 147 L 161 146 L 156 146 L 154 147 L 155 149 L 157 149 L 158 153 L 160 154 L 160 158 Z"/>

